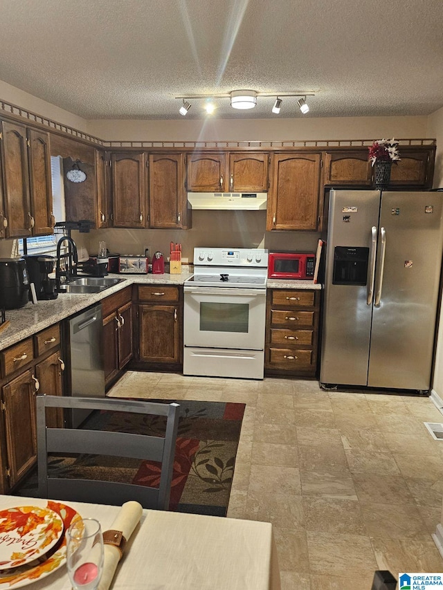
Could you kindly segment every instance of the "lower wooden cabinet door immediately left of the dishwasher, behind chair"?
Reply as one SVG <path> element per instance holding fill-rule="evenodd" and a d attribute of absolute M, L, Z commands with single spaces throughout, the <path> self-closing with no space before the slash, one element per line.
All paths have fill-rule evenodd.
<path fill-rule="evenodd" d="M 39 380 L 39 395 L 62 396 L 64 363 L 57 351 L 39 362 L 35 367 L 35 376 Z M 46 409 L 46 424 L 51 428 L 63 428 L 63 409 L 49 407 Z"/>

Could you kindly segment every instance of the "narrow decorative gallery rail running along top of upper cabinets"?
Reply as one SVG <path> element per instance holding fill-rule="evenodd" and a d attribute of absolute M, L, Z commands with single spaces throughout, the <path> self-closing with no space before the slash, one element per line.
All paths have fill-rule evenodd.
<path fill-rule="evenodd" d="M 282 140 L 282 141 L 105 141 L 100 138 L 96 138 L 89 133 L 79 131 L 69 127 L 69 125 L 62 125 L 57 121 L 53 121 L 48 117 L 43 117 L 28 109 L 17 107 L 16 104 L 7 102 L 6 100 L 0 100 L 0 111 L 3 111 L 6 116 L 12 116 L 13 118 L 21 118 L 26 122 L 35 123 L 48 127 L 53 131 L 57 131 L 78 140 L 88 142 L 89 144 L 96 145 L 102 148 L 106 147 L 120 147 L 120 148 L 140 148 L 140 149 L 155 149 L 155 148 L 169 148 L 169 149 L 223 149 L 223 148 L 236 148 L 236 147 L 255 147 L 255 148 L 290 148 L 290 147 L 367 147 L 372 144 L 373 139 L 342 139 L 342 140 Z M 1 114 L 1 113 L 0 113 Z M 400 145 L 409 146 L 425 146 L 425 145 L 436 145 L 437 140 L 430 138 L 413 138 L 413 139 L 399 139 L 397 140 Z"/>

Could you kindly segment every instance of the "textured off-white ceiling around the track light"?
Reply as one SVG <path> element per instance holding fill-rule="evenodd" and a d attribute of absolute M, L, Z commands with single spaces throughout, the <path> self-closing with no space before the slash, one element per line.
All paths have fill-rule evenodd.
<path fill-rule="evenodd" d="M 314 91 L 305 117 L 427 115 L 442 58 L 442 0 L 1 0 L 0 80 L 86 119 L 181 119 L 175 95 L 236 89 Z M 274 99 L 213 117 L 303 117 Z"/>

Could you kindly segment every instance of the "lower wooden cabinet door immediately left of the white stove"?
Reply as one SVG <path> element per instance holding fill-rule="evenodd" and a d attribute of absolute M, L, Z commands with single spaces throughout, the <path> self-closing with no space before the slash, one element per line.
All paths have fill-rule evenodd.
<path fill-rule="evenodd" d="M 179 308 L 139 305 L 140 359 L 179 362 Z"/>

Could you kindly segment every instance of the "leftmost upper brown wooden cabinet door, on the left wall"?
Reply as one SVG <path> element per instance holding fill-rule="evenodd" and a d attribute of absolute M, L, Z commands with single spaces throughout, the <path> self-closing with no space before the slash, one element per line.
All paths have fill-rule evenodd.
<path fill-rule="evenodd" d="M 6 237 L 29 237 L 34 221 L 30 208 L 26 127 L 3 121 L 2 131 Z"/>

